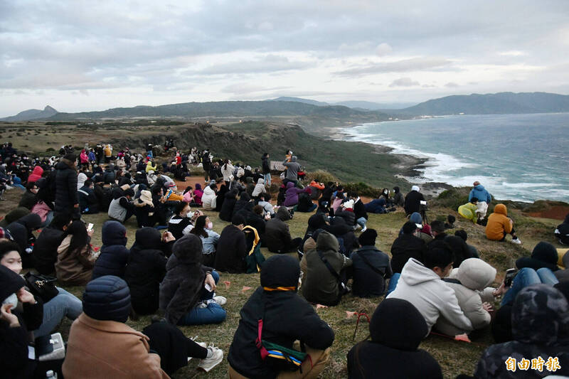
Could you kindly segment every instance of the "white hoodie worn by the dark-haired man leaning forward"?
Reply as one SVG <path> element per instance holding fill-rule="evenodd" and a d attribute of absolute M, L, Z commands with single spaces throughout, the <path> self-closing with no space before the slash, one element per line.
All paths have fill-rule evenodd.
<path fill-rule="evenodd" d="M 440 316 L 459 329 L 472 331 L 472 323 L 458 306 L 454 291 L 415 258 L 405 263 L 397 287 L 387 299 L 403 299 L 413 304 L 425 317 L 429 331 Z"/>

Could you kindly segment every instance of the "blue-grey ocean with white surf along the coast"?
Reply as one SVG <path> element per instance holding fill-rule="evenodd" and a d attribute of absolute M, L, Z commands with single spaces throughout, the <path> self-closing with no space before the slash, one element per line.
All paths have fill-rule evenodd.
<path fill-rule="evenodd" d="M 344 140 L 427 159 L 413 183 L 482 185 L 498 199 L 569 202 L 569 113 L 484 114 L 374 122 Z"/>

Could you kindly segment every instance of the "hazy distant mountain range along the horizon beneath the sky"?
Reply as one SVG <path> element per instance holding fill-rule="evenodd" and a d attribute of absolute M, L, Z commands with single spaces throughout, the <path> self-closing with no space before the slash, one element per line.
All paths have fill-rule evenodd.
<path fill-rule="evenodd" d="M 412 107 L 397 109 L 376 102 L 349 101 L 331 105 L 300 97 L 279 97 L 264 101 L 185 102 L 150 107 L 139 105 L 112 108 L 99 112 L 64 113 L 49 105 L 43 110 L 26 110 L 0 121 L 17 122 L 31 119 L 68 121 L 74 119 L 104 119 L 129 117 L 289 117 L 312 127 L 338 126 L 345 122 L 376 122 L 392 117 L 417 117 L 444 114 L 509 114 L 569 112 L 569 95 L 546 92 L 499 92 L 440 97 Z M 399 103 L 401 105 L 401 103 Z M 376 107 L 381 107 L 376 108 Z"/>

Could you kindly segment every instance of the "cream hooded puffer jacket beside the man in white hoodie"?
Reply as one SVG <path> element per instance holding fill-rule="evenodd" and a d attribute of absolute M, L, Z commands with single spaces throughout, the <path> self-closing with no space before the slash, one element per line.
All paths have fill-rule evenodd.
<path fill-rule="evenodd" d="M 494 279 L 496 279 L 496 269 L 478 258 L 464 260 L 458 268 L 452 270 L 450 280 L 443 279 L 447 286 L 454 290 L 460 309 L 474 329 L 482 329 L 490 324 L 490 314 L 482 308 L 482 302 L 494 301 L 492 296 L 494 289 L 488 287 Z M 467 332 L 457 329 L 442 317 L 438 319 L 436 328 L 449 336 Z"/>

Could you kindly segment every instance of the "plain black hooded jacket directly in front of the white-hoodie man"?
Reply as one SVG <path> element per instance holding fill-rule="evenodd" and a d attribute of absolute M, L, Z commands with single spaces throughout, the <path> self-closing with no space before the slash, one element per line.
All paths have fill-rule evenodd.
<path fill-rule="evenodd" d="M 371 341 L 358 343 L 348 353 L 348 378 L 442 379 L 439 363 L 418 348 L 428 329 L 409 301 L 381 301 L 373 312 L 369 331 Z"/>

